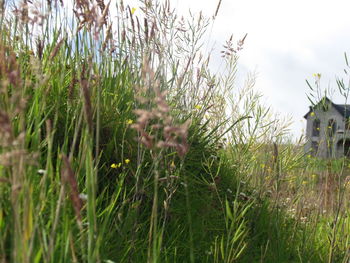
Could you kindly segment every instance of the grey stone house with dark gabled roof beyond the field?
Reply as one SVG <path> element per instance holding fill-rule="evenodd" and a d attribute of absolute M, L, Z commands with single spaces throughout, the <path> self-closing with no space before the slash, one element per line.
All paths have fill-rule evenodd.
<path fill-rule="evenodd" d="M 350 105 L 324 97 L 310 106 L 304 118 L 308 153 L 319 158 L 350 157 Z"/>

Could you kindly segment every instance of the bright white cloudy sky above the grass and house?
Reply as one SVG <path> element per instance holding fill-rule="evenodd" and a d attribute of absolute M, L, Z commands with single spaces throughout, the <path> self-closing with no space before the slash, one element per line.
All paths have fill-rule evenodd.
<path fill-rule="evenodd" d="M 137 1 L 125 0 L 131 5 Z M 170 0 L 182 14 L 191 9 L 207 16 L 218 0 Z M 256 70 L 256 88 L 264 101 L 281 115 L 293 117 L 291 129 L 302 134 L 309 93 L 305 79 L 321 73 L 323 88 L 336 88 L 336 76 L 345 68 L 344 52 L 350 57 L 350 1 L 345 0 L 222 0 L 211 33 L 214 57 L 220 58 L 225 40 L 248 33 L 240 53 L 238 74 L 243 78 Z M 215 63 L 214 63 L 215 64 Z M 335 103 L 342 99 L 335 97 Z"/>

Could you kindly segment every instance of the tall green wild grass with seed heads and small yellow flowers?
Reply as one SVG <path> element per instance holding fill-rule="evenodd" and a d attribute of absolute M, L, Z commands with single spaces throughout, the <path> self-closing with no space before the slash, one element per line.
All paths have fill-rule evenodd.
<path fill-rule="evenodd" d="M 217 11 L 0 1 L 1 263 L 350 261 L 349 160 L 236 85 L 245 36 L 210 71 Z"/>

